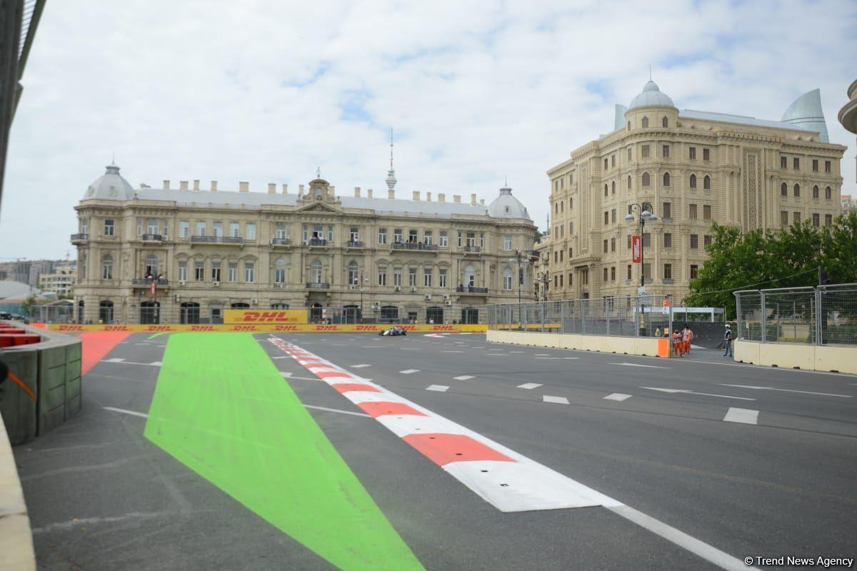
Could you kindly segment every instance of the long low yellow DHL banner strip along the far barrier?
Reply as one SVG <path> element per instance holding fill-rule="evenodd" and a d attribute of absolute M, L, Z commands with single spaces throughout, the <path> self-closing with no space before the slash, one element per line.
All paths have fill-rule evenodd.
<path fill-rule="evenodd" d="M 378 333 L 387 330 L 388 324 L 164 324 L 164 325 L 72 325 L 49 324 L 47 329 L 62 333 L 81 331 L 129 331 L 131 333 L 186 333 L 190 331 L 244 331 L 249 333 L 275 333 L 291 331 L 293 333 Z M 484 333 L 488 325 L 479 324 L 405 324 L 399 325 L 414 333 Z"/>

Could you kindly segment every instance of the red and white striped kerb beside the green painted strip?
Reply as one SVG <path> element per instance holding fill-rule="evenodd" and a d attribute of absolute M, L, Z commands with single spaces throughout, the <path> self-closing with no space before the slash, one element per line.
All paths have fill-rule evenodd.
<path fill-rule="evenodd" d="M 297 345 L 269 341 L 502 512 L 622 505 Z"/>

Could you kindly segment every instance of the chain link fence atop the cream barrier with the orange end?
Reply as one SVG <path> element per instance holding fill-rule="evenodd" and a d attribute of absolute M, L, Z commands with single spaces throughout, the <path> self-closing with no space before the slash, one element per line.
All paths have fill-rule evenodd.
<path fill-rule="evenodd" d="M 534 301 L 487 306 L 488 329 L 603 336 L 664 336 L 672 327 L 668 295 Z"/>

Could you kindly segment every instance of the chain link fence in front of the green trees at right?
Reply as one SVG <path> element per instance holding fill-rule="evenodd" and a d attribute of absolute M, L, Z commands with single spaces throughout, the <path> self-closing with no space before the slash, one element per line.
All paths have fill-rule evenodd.
<path fill-rule="evenodd" d="M 857 345 L 857 284 L 735 292 L 738 339 Z"/>

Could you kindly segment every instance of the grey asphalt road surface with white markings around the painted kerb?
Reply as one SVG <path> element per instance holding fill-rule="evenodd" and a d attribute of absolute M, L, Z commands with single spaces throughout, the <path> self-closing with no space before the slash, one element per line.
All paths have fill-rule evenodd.
<path fill-rule="evenodd" d="M 722 568 L 600 507 L 501 513 L 256 337 L 425 568 Z M 279 338 L 739 560 L 857 556 L 857 377 L 482 335 Z M 331 568 L 142 436 L 167 339 L 130 336 L 79 416 L 15 449 L 39 568 Z"/>

